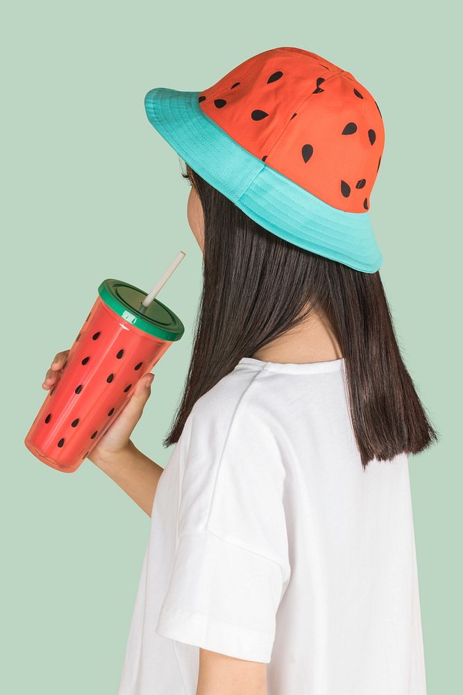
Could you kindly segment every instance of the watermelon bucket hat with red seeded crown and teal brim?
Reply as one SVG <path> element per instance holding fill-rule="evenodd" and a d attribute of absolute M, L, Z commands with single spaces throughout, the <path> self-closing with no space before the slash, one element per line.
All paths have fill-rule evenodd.
<path fill-rule="evenodd" d="M 355 270 L 380 268 L 369 208 L 385 130 L 350 72 L 278 47 L 201 91 L 151 89 L 144 106 L 178 155 L 264 229 Z"/>

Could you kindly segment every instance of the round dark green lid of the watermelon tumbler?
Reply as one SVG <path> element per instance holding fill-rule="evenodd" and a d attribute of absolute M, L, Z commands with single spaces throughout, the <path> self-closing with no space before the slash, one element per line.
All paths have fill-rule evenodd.
<path fill-rule="evenodd" d="M 146 292 L 121 280 L 103 280 L 98 293 L 106 304 L 125 321 L 163 341 L 179 341 L 185 327 L 178 316 L 159 300 L 153 300 L 147 309 L 140 306 Z"/>

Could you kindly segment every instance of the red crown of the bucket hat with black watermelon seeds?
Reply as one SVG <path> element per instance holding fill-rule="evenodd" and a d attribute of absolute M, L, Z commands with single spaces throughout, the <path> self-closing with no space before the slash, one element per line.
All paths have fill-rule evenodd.
<path fill-rule="evenodd" d="M 264 51 L 199 95 L 248 152 L 323 202 L 369 210 L 385 145 L 381 113 L 350 72 L 303 49 Z"/>

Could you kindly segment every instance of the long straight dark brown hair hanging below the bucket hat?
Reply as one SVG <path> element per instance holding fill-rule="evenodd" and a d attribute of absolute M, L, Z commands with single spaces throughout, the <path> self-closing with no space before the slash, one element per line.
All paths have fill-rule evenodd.
<path fill-rule="evenodd" d="M 190 165 L 182 176 L 203 207 L 203 291 L 183 398 L 164 445 L 178 441 L 196 400 L 242 357 L 252 357 L 314 309 L 328 318 L 345 359 L 362 466 L 435 443 L 438 434 L 401 357 L 379 271 L 353 270 L 287 243 Z"/>

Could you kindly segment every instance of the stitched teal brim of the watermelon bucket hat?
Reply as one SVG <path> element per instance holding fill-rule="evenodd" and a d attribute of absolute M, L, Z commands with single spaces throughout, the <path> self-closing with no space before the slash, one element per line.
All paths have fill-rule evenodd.
<path fill-rule="evenodd" d="M 380 268 L 368 212 L 338 210 L 272 169 L 201 110 L 200 94 L 157 87 L 144 99 L 151 125 L 199 176 L 285 241 L 354 270 Z"/>

